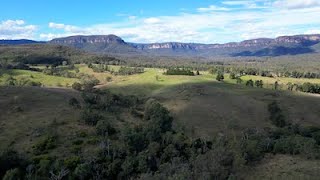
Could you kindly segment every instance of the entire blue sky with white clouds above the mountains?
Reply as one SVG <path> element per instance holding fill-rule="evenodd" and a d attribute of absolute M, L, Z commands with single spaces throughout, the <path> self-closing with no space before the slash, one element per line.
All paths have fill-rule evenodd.
<path fill-rule="evenodd" d="M 226 43 L 320 34 L 320 0 L 6 0 L 0 39 Z"/>

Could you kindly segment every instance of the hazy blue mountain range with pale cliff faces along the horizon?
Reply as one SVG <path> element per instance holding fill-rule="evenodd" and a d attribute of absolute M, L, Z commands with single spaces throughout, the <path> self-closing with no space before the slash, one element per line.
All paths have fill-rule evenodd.
<path fill-rule="evenodd" d="M 0 40 L 0 44 L 58 44 L 88 52 L 125 55 L 157 56 L 281 56 L 320 53 L 320 35 L 259 38 L 226 44 L 199 43 L 130 43 L 115 35 L 70 36 L 48 42 L 32 40 Z"/>

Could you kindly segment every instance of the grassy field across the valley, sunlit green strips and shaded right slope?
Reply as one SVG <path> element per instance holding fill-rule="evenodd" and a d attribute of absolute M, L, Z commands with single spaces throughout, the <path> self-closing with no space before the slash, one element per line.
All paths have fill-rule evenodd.
<path fill-rule="evenodd" d="M 320 82 L 317 79 L 242 77 L 244 81 L 263 80 L 265 88 L 260 89 L 238 85 L 235 80 L 229 79 L 228 74 L 225 75 L 224 82 L 218 82 L 214 75 L 207 72 L 201 72 L 199 76 L 167 76 L 163 75 L 164 69 L 146 68 L 141 74 L 114 76 L 109 72 L 95 73 L 87 65 L 76 66 L 80 73 L 99 79 L 98 88 L 118 94 L 158 99 L 172 112 L 176 123 L 195 136 L 229 133 L 230 129 L 240 132 L 248 127 L 271 126 L 267 105 L 272 101 L 280 103 L 289 121 L 320 125 L 320 96 L 272 90 L 275 81 L 280 84 Z M 117 71 L 120 67 L 110 68 Z M 4 80 L 9 74 L 17 79 L 32 76 L 32 80 L 49 87 L 70 86 L 79 81 L 24 70 L 3 72 L 0 80 Z M 108 82 L 107 77 L 111 77 L 112 81 Z"/>

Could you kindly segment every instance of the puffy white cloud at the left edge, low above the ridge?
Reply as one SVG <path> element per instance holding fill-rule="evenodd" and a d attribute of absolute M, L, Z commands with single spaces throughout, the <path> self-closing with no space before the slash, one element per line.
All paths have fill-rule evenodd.
<path fill-rule="evenodd" d="M 0 22 L 0 39 L 32 39 L 37 27 L 26 25 L 23 20 L 6 20 Z"/>

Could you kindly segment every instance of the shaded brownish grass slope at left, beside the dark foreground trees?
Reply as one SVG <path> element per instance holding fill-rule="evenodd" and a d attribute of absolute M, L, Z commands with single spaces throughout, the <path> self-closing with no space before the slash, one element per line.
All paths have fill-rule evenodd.
<path fill-rule="evenodd" d="M 3 148 L 32 152 L 32 146 L 45 134 L 58 134 L 59 143 L 85 126 L 78 125 L 79 111 L 68 104 L 78 93 L 38 87 L 0 87 L 0 142 Z M 62 145 L 52 154 L 64 152 Z M 64 153 L 62 153 L 64 154 Z"/>

